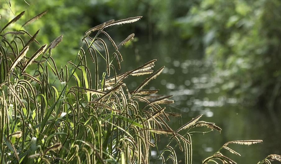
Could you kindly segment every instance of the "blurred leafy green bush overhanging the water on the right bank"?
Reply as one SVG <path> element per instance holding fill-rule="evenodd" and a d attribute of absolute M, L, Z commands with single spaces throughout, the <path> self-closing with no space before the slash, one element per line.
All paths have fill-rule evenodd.
<path fill-rule="evenodd" d="M 182 37 L 201 44 L 223 77 L 222 89 L 269 109 L 281 105 L 280 22 L 277 0 L 206 0 L 178 19 Z"/>

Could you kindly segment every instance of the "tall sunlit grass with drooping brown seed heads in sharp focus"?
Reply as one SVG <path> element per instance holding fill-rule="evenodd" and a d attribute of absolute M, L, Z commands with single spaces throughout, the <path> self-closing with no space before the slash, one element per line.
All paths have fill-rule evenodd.
<path fill-rule="evenodd" d="M 24 11 L 1 25 L 0 163 L 140 164 L 150 163 L 152 149 L 159 153 L 156 162 L 178 163 L 175 149 L 179 148 L 184 152 L 185 163 L 191 164 L 192 128 L 205 126 L 221 131 L 214 123 L 199 121 L 202 115 L 177 130 L 169 127 L 170 117 L 180 116 L 165 112 L 165 104 L 173 103 L 171 96 L 159 96 L 157 89 L 144 89 L 164 69 L 163 66 L 152 70 L 156 60 L 117 74 L 123 61 L 119 48 L 132 40 L 134 34 L 117 46 L 105 29 L 136 22 L 141 16 L 109 20 L 91 28 L 82 39 L 75 61 L 58 67 L 52 50 L 63 41 L 63 36 L 30 53 L 31 45 L 38 43 L 35 38 L 39 30 L 30 35 L 25 30 L 8 28 L 23 14 Z M 23 23 L 22 28 L 44 14 Z M 113 46 L 114 51 L 109 52 L 108 46 Z M 90 57 L 94 70 L 87 66 L 86 56 Z M 117 62 L 117 69 L 113 61 Z M 105 69 L 99 67 L 101 62 L 106 63 Z M 123 80 L 135 75 L 147 77 L 135 90 L 129 91 Z M 163 137 L 170 141 L 159 152 L 157 143 Z M 228 144 L 259 142 L 232 141 L 222 148 L 240 155 Z M 270 163 L 273 159 L 280 161 L 280 156 L 270 155 L 260 163 Z M 203 163 L 216 161 L 235 163 L 219 151 Z"/>

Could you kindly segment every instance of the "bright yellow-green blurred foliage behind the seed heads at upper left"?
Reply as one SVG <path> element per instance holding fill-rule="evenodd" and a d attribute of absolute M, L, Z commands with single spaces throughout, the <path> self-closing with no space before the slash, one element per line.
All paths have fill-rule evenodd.
<path fill-rule="evenodd" d="M 20 30 L 21 25 L 25 21 L 48 10 L 46 15 L 32 24 L 24 26 L 22 30 L 26 30 L 31 35 L 34 35 L 39 29 L 38 36 L 40 37 L 38 37 L 38 41 L 41 44 L 49 44 L 59 35 L 63 34 L 64 41 L 54 50 L 56 54 L 62 54 L 60 57 L 55 57 L 56 59 L 60 59 L 61 63 L 59 64 L 61 65 L 65 65 L 71 59 L 71 56 L 72 58 L 76 56 L 81 38 L 84 36 L 85 31 L 90 28 L 87 23 L 90 18 L 85 16 L 85 12 L 83 11 L 83 8 L 87 5 L 86 3 L 78 3 L 78 1 L 26 1 L 29 3 L 27 4 L 23 0 L 11 0 L 10 7 L 8 0 L 6 0 L 7 3 L 5 0 L 0 1 L 1 21 L 3 22 L 8 22 L 21 11 L 25 11 L 23 18 L 11 25 L 14 30 Z M 35 44 L 32 45 L 36 46 Z"/>

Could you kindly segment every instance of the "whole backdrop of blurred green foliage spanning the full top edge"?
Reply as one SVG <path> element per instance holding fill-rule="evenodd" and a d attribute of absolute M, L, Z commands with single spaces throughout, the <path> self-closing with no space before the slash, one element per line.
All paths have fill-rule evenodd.
<path fill-rule="evenodd" d="M 1 21 L 14 16 L 1 0 Z M 135 28 L 136 36 L 182 39 L 205 60 L 213 62 L 214 76 L 224 79 L 222 89 L 247 102 L 269 109 L 281 105 L 280 49 L 281 2 L 278 0 L 92 0 L 92 1 L 12 1 L 15 15 L 23 10 L 25 20 L 48 10 L 40 20 L 28 25 L 39 42 L 50 43 L 60 34 L 63 42 L 57 54 L 62 64 L 75 56 L 80 39 L 89 28 L 110 19 L 143 16 L 137 26 L 126 26 L 111 35 L 124 36 Z M 45 23 L 47 22 L 47 23 Z M 22 22 L 24 23 L 24 22 Z M 21 27 L 18 22 L 15 30 Z M 180 48 L 180 47 L 179 47 Z"/>

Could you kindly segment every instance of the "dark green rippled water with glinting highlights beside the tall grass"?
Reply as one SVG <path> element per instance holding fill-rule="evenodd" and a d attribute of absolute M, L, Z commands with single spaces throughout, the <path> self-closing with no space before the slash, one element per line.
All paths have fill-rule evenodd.
<path fill-rule="evenodd" d="M 128 71 L 152 59 L 157 59 L 154 70 L 166 66 L 163 73 L 152 80 L 145 89 L 160 89 L 159 94 L 173 95 L 175 103 L 166 107 L 166 112 L 178 112 L 181 118 L 174 118 L 168 123 L 176 130 L 192 118 L 203 114 L 200 120 L 214 122 L 223 130 L 209 133 L 192 133 L 193 162 L 202 163 L 206 157 L 214 154 L 224 143 L 232 140 L 263 139 L 263 143 L 230 147 L 241 154 L 238 157 L 227 151 L 222 153 L 238 163 L 257 163 L 268 154 L 281 154 L 280 127 L 271 121 L 262 109 L 242 105 L 234 97 L 226 97 L 221 90 L 223 79 L 212 73 L 212 62 L 202 60 L 202 55 L 191 51 L 179 43 L 178 39 L 159 39 L 151 44 L 140 38 L 132 47 L 121 50 L 123 58 L 122 71 Z M 128 88 L 135 89 L 145 77 L 127 79 Z M 196 128 L 195 131 L 208 131 Z M 186 132 L 183 130 L 183 133 Z M 158 143 L 159 151 L 168 143 L 162 139 Z M 184 163 L 184 152 L 175 148 L 178 161 Z M 151 152 L 158 157 L 156 149 Z M 167 156 L 167 154 L 166 154 Z M 151 162 L 155 162 L 152 159 Z M 159 161 L 159 163 L 161 163 Z M 167 163 L 172 163 L 168 161 Z"/>

